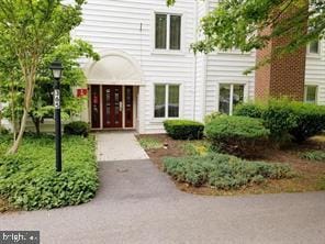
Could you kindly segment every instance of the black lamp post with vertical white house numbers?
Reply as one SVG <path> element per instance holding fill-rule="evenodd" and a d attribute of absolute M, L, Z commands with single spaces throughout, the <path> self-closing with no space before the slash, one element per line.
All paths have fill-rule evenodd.
<path fill-rule="evenodd" d="M 54 108 L 55 108 L 55 148 L 56 148 L 56 171 L 63 170 L 61 159 L 61 119 L 60 119 L 60 86 L 64 67 L 59 60 L 51 64 L 49 69 L 54 77 Z"/>

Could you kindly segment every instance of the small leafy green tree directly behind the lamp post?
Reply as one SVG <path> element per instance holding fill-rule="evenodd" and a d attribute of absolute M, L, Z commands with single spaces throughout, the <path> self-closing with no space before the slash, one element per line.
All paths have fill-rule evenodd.
<path fill-rule="evenodd" d="M 34 122 L 35 131 L 38 135 L 41 132 L 40 125 L 44 118 L 54 117 L 53 78 L 48 69 L 53 60 L 59 59 L 65 68 L 60 81 L 63 118 L 69 119 L 83 109 L 85 98 L 76 98 L 72 92 L 72 87 L 83 87 L 86 85 L 86 77 L 77 60 L 80 57 L 99 60 L 99 55 L 93 52 L 90 44 L 81 40 L 70 42 L 67 38 L 63 40 L 63 43 L 53 53 L 42 58 L 40 68 L 37 69 L 35 90 L 30 110 L 30 117 Z"/>

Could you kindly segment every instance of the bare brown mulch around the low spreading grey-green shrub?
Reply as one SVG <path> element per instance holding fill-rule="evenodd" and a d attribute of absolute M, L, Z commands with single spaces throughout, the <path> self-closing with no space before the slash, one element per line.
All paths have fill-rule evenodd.
<path fill-rule="evenodd" d="M 164 157 L 182 157 L 186 153 L 182 148 L 183 141 L 175 141 L 165 134 L 139 135 L 139 138 L 150 137 L 168 145 L 165 148 L 146 149 L 150 159 L 160 169 L 164 170 Z M 233 196 L 247 193 L 279 193 L 279 192 L 304 192 L 320 190 L 320 180 L 325 177 L 325 162 L 310 162 L 301 159 L 299 154 L 304 151 L 324 149 L 325 141 L 309 141 L 303 145 L 291 145 L 287 148 L 276 148 L 265 146 L 259 152 L 258 158 L 255 160 L 264 160 L 268 163 L 285 163 L 298 173 L 298 177 L 292 179 L 267 180 L 260 185 L 251 185 L 243 187 L 238 190 L 217 190 L 211 187 L 192 187 L 184 182 L 175 181 L 176 186 L 186 192 L 195 195 L 213 195 L 213 196 Z"/>

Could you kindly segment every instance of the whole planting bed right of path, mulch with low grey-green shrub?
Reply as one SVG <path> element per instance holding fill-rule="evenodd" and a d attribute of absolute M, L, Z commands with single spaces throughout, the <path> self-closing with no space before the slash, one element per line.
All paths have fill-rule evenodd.
<path fill-rule="evenodd" d="M 324 190 L 324 160 L 313 160 L 302 156 L 315 154 L 314 152 L 325 152 L 325 141 L 320 140 L 321 137 L 317 136 L 302 145 L 293 144 L 282 149 L 265 145 L 254 159 L 231 156 L 232 159 L 225 158 L 224 160 L 211 160 L 209 155 L 215 153 L 205 140 L 177 141 L 162 134 L 139 135 L 138 140 L 150 141 L 155 145 L 165 144 L 165 147 L 146 147 L 145 149 L 157 167 L 171 176 L 180 190 L 198 195 L 223 196 Z M 267 166 L 267 171 L 260 171 L 265 166 Z M 274 168 L 278 166 L 280 170 Z M 211 168 L 217 168 L 225 174 L 217 175 L 220 170 L 211 173 Z M 217 177 L 204 178 L 201 175 L 204 170 L 210 173 L 206 176 L 217 175 Z M 255 175 L 251 175 L 251 171 Z M 268 177 L 268 171 L 270 174 L 283 171 L 284 174 Z"/>

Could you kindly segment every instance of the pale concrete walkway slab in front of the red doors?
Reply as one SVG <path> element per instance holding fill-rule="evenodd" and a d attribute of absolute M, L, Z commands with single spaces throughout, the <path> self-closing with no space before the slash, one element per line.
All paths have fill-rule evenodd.
<path fill-rule="evenodd" d="M 148 156 L 133 132 L 97 133 L 97 157 L 99 162 L 139 160 Z"/>

